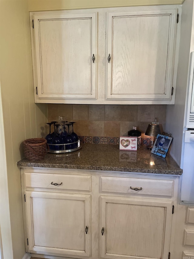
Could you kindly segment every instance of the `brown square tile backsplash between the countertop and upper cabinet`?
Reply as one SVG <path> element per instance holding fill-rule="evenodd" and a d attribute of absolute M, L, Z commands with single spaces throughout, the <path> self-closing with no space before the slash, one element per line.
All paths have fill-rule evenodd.
<path fill-rule="evenodd" d="M 116 144 L 117 138 L 127 136 L 137 127 L 142 141 L 148 124 L 159 122 L 161 133 L 165 131 L 166 105 L 101 105 L 101 104 L 48 104 L 48 121 L 75 121 L 74 131 L 85 143 Z M 83 139 L 84 138 L 84 139 Z M 143 144 L 143 143 L 142 143 Z"/>

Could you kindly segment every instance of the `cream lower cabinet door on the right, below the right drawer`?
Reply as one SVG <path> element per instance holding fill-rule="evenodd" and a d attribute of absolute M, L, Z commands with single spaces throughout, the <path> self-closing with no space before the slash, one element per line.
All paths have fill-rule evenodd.
<path fill-rule="evenodd" d="M 101 257 L 168 258 L 171 217 L 172 201 L 101 196 Z"/>

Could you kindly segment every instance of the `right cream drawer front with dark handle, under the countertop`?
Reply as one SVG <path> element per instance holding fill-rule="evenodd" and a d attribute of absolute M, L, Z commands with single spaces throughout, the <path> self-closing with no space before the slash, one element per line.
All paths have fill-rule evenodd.
<path fill-rule="evenodd" d="M 101 176 L 101 191 L 108 193 L 147 194 L 172 197 L 173 184 L 173 180 Z"/>

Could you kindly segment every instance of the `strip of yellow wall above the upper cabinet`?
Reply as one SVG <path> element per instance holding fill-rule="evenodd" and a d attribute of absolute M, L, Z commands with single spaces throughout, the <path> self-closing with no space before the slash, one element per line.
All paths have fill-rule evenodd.
<path fill-rule="evenodd" d="M 28 0 L 29 11 L 182 4 L 184 0 Z"/>

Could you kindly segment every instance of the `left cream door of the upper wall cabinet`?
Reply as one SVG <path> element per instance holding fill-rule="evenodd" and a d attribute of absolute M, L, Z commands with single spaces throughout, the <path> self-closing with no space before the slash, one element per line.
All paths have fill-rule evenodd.
<path fill-rule="evenodd" d="M 96 17 L 96 12 L 32 16 L 39 99 L 96 98 Z"/>

